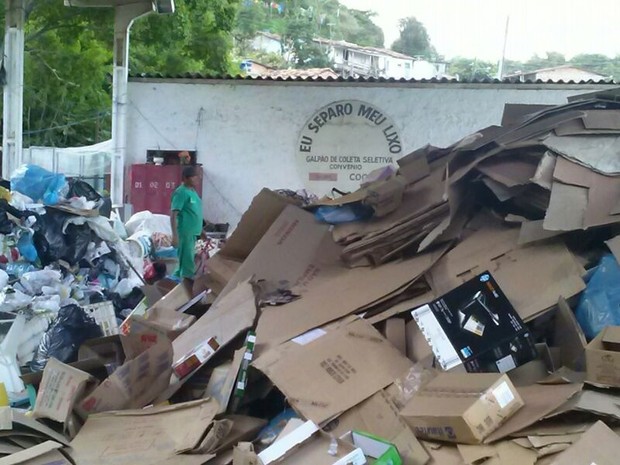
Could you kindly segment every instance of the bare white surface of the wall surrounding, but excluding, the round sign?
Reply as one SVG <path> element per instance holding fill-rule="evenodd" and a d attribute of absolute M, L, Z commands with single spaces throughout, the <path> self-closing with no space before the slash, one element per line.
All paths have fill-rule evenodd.
<path fill-rule="evenodd" d="M 296 163 L 300 132 L 332 102 L 356 99 L 382 109 L 399 127 L 406 154 L 499 124 L 505 103 L 562 104 L 604 87 L 132 78 L 127 163 L 143 163 L 147 149 L 196 150 L 205 217 L 234 226 L 262 187 L 305 187 Z"/>

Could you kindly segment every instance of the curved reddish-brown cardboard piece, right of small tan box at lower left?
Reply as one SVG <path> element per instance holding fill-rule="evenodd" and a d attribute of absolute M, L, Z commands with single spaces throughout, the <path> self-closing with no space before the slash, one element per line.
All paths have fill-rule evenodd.
<path fill-rule="evenodd" d="M 90 393 L 78 407 L 82 415 L 148 405 L 170 384 L 172 345 L 160 340 L 127 361 Z"/>

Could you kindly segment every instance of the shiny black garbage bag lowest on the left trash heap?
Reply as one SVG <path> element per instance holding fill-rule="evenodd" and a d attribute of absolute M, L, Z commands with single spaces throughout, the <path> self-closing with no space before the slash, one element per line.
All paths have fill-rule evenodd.
<path fill-rule="evenodd" d="M 50 357 L 63 362 L 77 361 L 78 349 L 89 339 L 102 337 L 103 331 L 78 305 L 67 305 L 47 329 L 30 362 L 32 371 L 42 371 Z"/>

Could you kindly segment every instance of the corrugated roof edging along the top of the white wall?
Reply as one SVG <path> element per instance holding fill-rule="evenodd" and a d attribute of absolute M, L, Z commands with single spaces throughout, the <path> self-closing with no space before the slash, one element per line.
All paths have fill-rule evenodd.
<path fill-rule="evenodd" d="M 319 68 L 320 69 L 320 68 Z M 329 68 L 325 68 L 329 69 Z M 586 80 L 586 81 L 555 81 L 555 80 L 527 80 L 527 81 L 515 81 L 512 79 L 504 78 L 502 80 L 499 79 L 471 79 L 471 80 L 457 80 L 457 79 L 449 79 L 449 78 L 433 78 L 433 79 L 395 79 L 395 78 L 376 78 L 376 77 L 348 77 L 343 78 L 342 76 L 336 75 L 336 77 L 331 76 L 329 73 L 319 73 L 318 76 L 310 76 L 304 73 L 296 73 L 295 71 L 308 71 L 308 70 L 276 70 L 276 71 L 286 71 L 284 73 L 275 73 L 270 76 L 248 76 L 248 75 L 230 75 L 230 74 L 201 74 L 201 73 L 183 73 L 183 74 L 161 74 L 161 73 L 142 73 L 135 74 L 131 73 L 130 78 L 132 80 L 140 80 L 140 79 L 161 79 L 161 80 L 211 80 L 211 81 L 286 81 L 286 82 L 303 82 L 303 81 L 313 81 L 313 82 L 326 82 L 326 83 L 393 83 L 393 84 L 484 84 L 484 85 L 517 85 L 517 86 L 528 86 L 528 85 L 540 85 L 540 84 L 548 84 L 548 85 L 599 85 L 599 86 L 609 86 L 615 85 L 613 81 L 595 81 L 595 80 Z M 331 70 L 330 70 L 331 71 Z M 312 74 L 312 73 L 310 73 Z M 316 73 L 315 73 L 316 74 Z"/>

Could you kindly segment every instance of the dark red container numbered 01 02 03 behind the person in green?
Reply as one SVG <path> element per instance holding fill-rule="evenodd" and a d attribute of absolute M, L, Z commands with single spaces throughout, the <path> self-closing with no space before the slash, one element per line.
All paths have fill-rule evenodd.
<path fill-rule="evenodd" d="M 127 203 L 134 213 L 148 210 L 151 213 L 170 215 L 170 199 L 183 178 L 183 165 L 131 165 L 126 177 Z M 202 170 L 196 188 L 202 198 Z"/>

